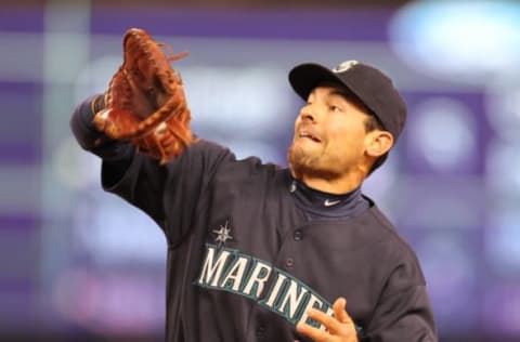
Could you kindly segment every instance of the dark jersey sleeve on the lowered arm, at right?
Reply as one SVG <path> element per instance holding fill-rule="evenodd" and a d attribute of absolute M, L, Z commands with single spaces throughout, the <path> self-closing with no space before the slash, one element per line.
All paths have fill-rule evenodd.
<path fill-rule="evenodd" d="M 390 274 L 360 341 L 438 341 L 426 284 L 415 254 Z"/>

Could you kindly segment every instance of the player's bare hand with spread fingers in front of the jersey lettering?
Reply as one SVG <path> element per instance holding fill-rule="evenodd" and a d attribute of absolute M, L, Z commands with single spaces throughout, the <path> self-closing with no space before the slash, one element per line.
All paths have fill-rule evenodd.
<path fill-rule="evenodd" d="M 358 342 L 355 326 L 344 310 L 346 304 L 347 300 L 341 297 L 334 302 L 334 317 L 326 315 L 320 310 L 309 310 L 309 317 L 321 323 L 326 328 L 326 331 L 303 323 L 298 324 L 296 330 L 315 342 Z"/>

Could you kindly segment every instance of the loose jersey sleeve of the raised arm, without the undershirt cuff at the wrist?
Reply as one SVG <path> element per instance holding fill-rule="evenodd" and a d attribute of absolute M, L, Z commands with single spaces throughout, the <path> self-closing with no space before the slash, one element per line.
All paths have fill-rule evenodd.
<path fill-rule="evenodd" d="M 134 154 L 121 174 L 113 162 L 102 163 L 102 186 L 144 210 L 177 245 L 190 233 L 197 206 L 209 195 L 217 170 L 235 156 L 226 148 L 199 140 L 166 166 L 145 155 Z"/>

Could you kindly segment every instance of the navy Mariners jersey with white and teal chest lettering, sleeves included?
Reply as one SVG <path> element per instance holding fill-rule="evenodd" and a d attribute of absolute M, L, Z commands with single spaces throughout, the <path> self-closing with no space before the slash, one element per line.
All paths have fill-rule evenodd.
<path fill-rule="evenodd" d="M 373 201 L 310 220 L 287 169 L 204 140 L 161 167 L 129 144 L 94 147 L 80 113 L 73 130 L 103 158 L 104 189 L 167 237 L 167 341 L 309 341 L 296 325 L 323 328 L 306 312 L 332 315 L 338 297 L 360 341 L 437 341 L 415 253 Z"/>

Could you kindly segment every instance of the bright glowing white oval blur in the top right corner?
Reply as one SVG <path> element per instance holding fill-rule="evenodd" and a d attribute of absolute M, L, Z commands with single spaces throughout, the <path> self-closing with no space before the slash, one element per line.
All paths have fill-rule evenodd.
<path fill-rule="evenodd" d="M 485 83 L 520 63 L 518 1 L 414 1 L 390 27 L 395 53 L 433 78 Z"/>

